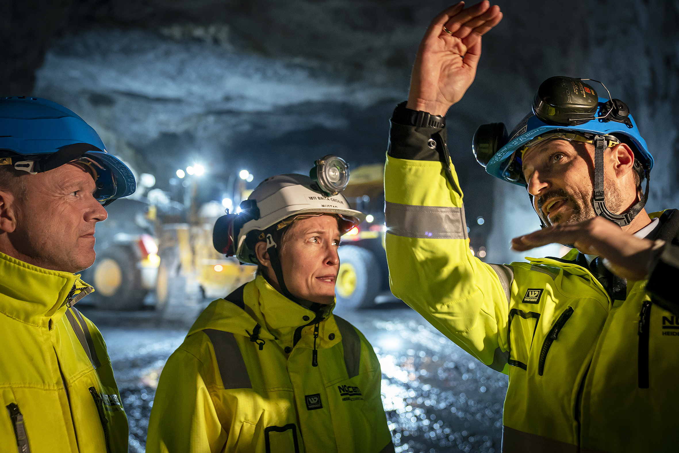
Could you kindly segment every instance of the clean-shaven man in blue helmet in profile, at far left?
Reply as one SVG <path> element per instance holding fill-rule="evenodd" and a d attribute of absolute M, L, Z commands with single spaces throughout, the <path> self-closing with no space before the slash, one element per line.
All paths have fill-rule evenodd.
<path fill-rule="evenodd" d="M 73 306 L 94 289 L 103 206 L 134 192 L 130 169 L 69 109 L 0 99 L 0 450 L 127 452 L 106 345 Z"/>

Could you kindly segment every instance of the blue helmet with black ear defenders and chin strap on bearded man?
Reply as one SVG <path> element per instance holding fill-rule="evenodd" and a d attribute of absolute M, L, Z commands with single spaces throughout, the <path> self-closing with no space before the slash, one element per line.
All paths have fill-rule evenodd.
<path fill-rule="evenodd" d="M 608 93 L 608 99 L 599 98 L 584 80 L 601 84 Z M 579 141 L 595 146 L 592 205 L 597 215 L 622 227 L 643 209 L 648 199 L 653 156 L 646 149 L 646 142 L 640 136 L 627 105 L 611 98 L 608 88 L 598 80 L 550 77 L 538 88 L 532 113 L 526 115 L 511 134 L 507 133 L 503 123 L 483 124 L 474 134 L 472 152 L 490 175 L 528 187 L 521 168 L 521 157 L 529 147 L 549 139 Z M 646 178 L 646 190 L 641 200 L 627 213 L 614 214 L 606 209 L 604 202 L 604 151 L 621 142 L 634 151 L 634 170 L 640 175 L 640 181 Z"/>

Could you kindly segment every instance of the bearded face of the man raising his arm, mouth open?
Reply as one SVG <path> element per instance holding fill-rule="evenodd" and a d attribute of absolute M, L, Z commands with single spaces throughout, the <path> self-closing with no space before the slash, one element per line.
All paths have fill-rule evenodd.
<path fill-rule="evenodd" d="M 620 189 L 615 175 L 606 165 L 604 153 L 604 188 L 606 206 L 619 211 Z M 592 219 L 594 147 L 582 142 L 553 139 L 524 152 L 522 158 L 528 192 L 533 208 L 545 225 L 576 223 Z"/>

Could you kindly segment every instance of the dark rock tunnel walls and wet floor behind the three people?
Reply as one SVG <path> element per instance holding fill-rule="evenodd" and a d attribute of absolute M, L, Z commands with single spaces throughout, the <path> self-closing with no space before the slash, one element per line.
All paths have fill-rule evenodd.
<path fill-rule="evenodd" d="M 498 1 L 504 19 L 483 37 L 475 83 L 447 116 L 470 236 L 485 261 L 523 259 L 509 239 L 539 223 L 525 189 L 487 174 L 471 153 L 479 124 L 511 129 L 553 75 L 604 81 L 656 160 L 647 211 L 679 201 L 679 3 Z M 201 163 L 221 200 L 247 169 L 253 189 L 306 173 L 328 153 L 352 168 L 384 162 L 388 118 L 407 98 L 418 43 L 443 1 L 10 0 L 0 4 L 0 95 L 73 109 L 109 152 L 185 202 L 179 168 Z M 598 89 L 597 86 L 595 88 Z M 483 223 L 477 219 L 483 218 Z M 143 220 L 142 220 L 143 222 Z M 557 246 L 530 255 L 555 255 Z M 507 378 L 475 361 L 402 306 L 339 313 L 382 363 L 399 452 L 499 451 Z M 158 374 L 185 329 L 144 312 L 91 312 L 109 344 L 143 451 Z M 126 317 L 128 316 L 128 317 Z"/>

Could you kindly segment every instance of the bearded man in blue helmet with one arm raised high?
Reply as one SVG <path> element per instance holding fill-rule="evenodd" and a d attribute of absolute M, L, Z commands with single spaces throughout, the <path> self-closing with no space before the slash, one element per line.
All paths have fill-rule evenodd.
<path fill-rule="evenodd" d="M 676 451 L 679 214 L 644 210 L 653 158 L 624 103 L 552 77 L 511 134 L 481 126 L 477 160 L 525 185 L 545 226 L 514 249 L 575 248 L 502 266 L 469 249 L 445 113 L 474 79 L 481 35 L 501 18 L 488 1 L 460 2 L 420 44 L 385 168 L 392 292 L 509 375 L 503 452 Z"/>

